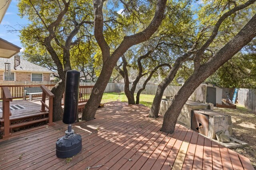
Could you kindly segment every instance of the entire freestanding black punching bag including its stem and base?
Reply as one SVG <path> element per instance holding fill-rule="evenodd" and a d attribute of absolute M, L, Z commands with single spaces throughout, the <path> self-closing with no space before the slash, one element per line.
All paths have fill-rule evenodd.
<path fill-rule="evenodd" d="M 56 142 L 56 156 L 58 158 L 69 158 L 82 150 L 82 136 L 75 134 L 72 123 L 76 122 L 78 114 L 78 92 L 80 72 L 70 70 L 66 73 L 65 101 L 63 123 L 68 124 L 66 135 Z"/>

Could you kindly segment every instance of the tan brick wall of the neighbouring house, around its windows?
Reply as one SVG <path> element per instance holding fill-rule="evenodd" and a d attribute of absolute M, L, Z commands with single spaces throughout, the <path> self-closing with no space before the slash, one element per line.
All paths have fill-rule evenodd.
<path fill-rule="evenodd" d="M 31 72 L 15 72 L 16 81 L 31 81 Z M 0 71 L 0 81 L 4 81 L 4 71 Z M 43 81 L 50 81 L 50 73 L 43 73 Z"/>

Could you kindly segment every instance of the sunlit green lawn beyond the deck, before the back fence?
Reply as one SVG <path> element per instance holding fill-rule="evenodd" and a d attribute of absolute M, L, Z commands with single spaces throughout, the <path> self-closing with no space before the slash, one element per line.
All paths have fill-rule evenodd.
<path fill-rule="evenodd" d="M 148 94 L 140 94 L 140 104 L 144 106 L 151 107 L 152 102 L 154 100 L 154 95 Z M 136 94 L 134 95 L 136 100 Z M 120 102 L 128 102 L 124 93 L 104 93 L 101 103 L 113 102 L 113 101 L 120 101 Z"/>

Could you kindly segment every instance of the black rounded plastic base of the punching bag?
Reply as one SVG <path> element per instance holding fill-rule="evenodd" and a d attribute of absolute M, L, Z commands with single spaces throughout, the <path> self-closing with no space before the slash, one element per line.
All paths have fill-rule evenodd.
<path fill-rule="evenodd" d="M 82 150 L 82 136 L 74 134 L 72 138 L 65 136 L 56 142 L 56 156 L 58 158 L 70 158 Z"/>

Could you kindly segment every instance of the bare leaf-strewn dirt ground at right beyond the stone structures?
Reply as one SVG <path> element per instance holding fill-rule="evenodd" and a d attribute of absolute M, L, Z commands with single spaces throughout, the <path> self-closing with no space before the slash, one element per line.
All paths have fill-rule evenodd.
<path fill-rule="evenodd" d="M 231 115 L 233 125 L 232 137 L 249 144 L 248 147 L 232 149 L 250 159 L 256 168 L 256 113 L 237 105 L 237 109 L 217 108 L 219 111 Z"/>

